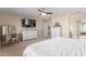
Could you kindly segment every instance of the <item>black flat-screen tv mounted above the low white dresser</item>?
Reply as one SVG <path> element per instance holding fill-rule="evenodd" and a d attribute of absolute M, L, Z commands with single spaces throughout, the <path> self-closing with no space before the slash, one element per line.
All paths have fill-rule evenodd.
<path fill-rule="evenodd" d="M 36 27 L 36 20 L 22 18 L 22 27 Z"/>

